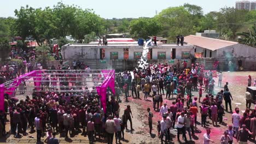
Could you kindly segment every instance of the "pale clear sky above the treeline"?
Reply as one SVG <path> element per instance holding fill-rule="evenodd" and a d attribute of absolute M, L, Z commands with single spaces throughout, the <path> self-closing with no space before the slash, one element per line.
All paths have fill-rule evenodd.
<path fill-rule="evenodd" d="M 153 17 L 168 7 L 177 7 L 184 3 L 199 5 L 203 13 L 218 11 L 223 7 L 235 7 L 237 0 L 62 0 L 64 4 L 78 5 L 86 9 L 94 9 L 95 13 L 105 19 Z M 53 7 L 60 0 L 3 0 L 0 5 L 0 17 L 14 17 L 14 10 L 25 7 L 27 4 L 33 8 Z"/>

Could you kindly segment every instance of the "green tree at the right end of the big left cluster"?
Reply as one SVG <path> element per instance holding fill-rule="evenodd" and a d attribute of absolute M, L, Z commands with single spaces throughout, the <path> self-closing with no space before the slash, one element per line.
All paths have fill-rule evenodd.
<path fill-rule="evenodd" d="M 91 9 L 76 10 L 71 34 L 79 41 L 79 43 L 83 43 L 85 35 L 92 32 L 100 34 L 102 29 L 101 17 L 92 12 Z"/>

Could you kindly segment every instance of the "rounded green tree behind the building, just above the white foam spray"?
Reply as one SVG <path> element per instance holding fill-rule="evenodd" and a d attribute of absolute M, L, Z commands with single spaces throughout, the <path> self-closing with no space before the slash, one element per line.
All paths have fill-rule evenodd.
<path fill-rule="evenodd" d="M 150 35 L 157 35 L 162 29 L 162 25 L 154 18 L 141 17 L 132 20 L 130 23 L 130 34 L 133 38 L 147 39 Z"/>

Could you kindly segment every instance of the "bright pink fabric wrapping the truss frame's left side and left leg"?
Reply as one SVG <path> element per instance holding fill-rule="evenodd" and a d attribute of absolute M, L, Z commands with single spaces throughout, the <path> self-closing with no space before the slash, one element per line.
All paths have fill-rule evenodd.
<path fill-rule="evenodd" d="M 0 110 L 4 111 L 4 93 L 7 93 L 9 95 L 13 94 L 15 89 L 20 85 L 22 81 L 25 81 L 31 78 L 28 76 L 40 76 L 41 74 L 42 74 L 42 70 L 34 70 L 34 71 L 31 71 L 30 73 L 21 75 L 20 77 L 17 77 L 16 79 L 14 79 L 13 82 L 9 85 L 9 88 L 6 88 L 4 84 L 0 85 Z M 34 78 L 34 80 L 41 80 L 41 78 L 36 77 Z M 36 88 L 39 88 L 40 85 L 41 85 L 41 82 L 34 82 L 34 86 L 36 86 Z"/>

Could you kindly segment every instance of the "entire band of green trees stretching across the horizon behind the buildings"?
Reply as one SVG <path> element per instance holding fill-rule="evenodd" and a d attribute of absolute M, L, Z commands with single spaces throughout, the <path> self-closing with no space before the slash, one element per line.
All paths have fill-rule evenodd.
<path fill-rule="evenodd" d="M 162 10 L 154 17 L 138 19 L 103 19 L 92 9 L 62 2 L 54 7 L 32 8 L 28 5 L 15 10 L 15 18 L 0 18 L 0 38 L 20 36 L 24 42 L 32 37 L 39 46 L 50 39 L 72 35 L 77 43 L 88 43 L 109 33 L 125 33 L 132 38 L 159 35 L 174 42 L 176 35 L 189 35 L 216 30 L 220 39 L 237 41 L 237 33 L 246 32 L 256 22 L 256 11 L 224 7 L 203 14 L 200 6 L 185 3 Z"/>

